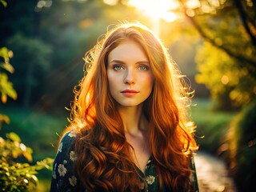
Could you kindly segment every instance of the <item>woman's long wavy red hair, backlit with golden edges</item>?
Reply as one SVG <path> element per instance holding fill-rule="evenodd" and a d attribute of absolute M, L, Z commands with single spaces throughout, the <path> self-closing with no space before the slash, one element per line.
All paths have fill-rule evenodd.
<path fill-rule="evenodd" d="M 150 122 L 150 147 L 160 189 L 188 189 L 189 157 L 197 149 L 194 124 L 187 118 L 190 88 L 162 42 L 138 23 L 116 26 L 86 53 L 86 72 L 76 86 L 67 129 L 77 133 L 75 168 L 79 178 L 89 191 L 140 191 L 137 168 L 106 74 L 110 51 L 126 40 L 142 46 L 154 74 L 154 88 L 143 104 L 143 113 Z"/>

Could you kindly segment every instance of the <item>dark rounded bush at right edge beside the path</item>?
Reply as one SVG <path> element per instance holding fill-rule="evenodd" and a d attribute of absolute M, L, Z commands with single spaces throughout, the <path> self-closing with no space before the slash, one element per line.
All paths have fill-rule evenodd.
<path fill-rule="evenodd" d="M 238 190 L 256 191 L 256 102 L 242 110 L 231 123 L 230 171 Z"/>

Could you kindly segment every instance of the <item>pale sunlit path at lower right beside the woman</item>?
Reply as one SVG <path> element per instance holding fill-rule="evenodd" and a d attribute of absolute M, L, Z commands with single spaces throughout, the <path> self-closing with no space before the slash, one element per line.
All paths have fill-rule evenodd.
<path fill-rule="evenodd" d="M 228 176 L 222 160 L 198 152 L 194 155 L 200 192 L 236 192 L 232 178 Z"/>

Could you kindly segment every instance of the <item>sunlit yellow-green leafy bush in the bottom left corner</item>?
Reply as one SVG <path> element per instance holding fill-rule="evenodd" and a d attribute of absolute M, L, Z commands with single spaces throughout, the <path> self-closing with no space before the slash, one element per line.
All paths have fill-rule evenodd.
<path fill-rule="evenodd" d="M 23 156 L 32 162 L 32 149 L 25 146 L 18 134 L 6 134 L 0 137 L 0 190 L 1 191 L 34 191 L 38 183 L 38 170 L 52 169 L 52 158 L 45 158 L 36 165 L 15 161 Z"/>

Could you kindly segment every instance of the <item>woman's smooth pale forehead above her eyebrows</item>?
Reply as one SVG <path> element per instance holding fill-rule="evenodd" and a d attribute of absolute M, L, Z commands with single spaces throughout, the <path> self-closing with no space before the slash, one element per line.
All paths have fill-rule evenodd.
<path fill-rule="evenodd" d="M 112 59 L 130 60 L 131 58 L 135 60 L 148 61 L 147 55 L 142 46 L 140 46 L 138 42 L 130 40 L 120 43 L 114 48 L 114 50 L 111 50 L 108 58 L 109 61 Z"/>

